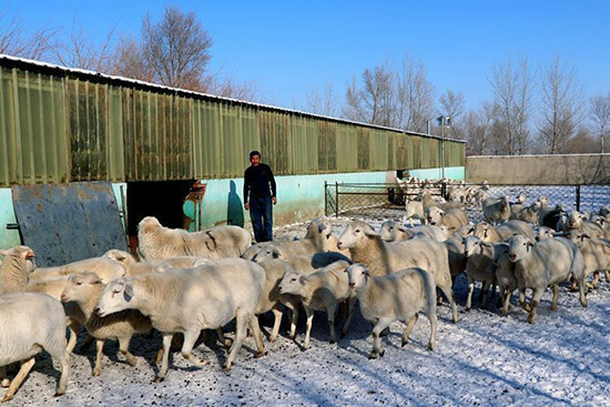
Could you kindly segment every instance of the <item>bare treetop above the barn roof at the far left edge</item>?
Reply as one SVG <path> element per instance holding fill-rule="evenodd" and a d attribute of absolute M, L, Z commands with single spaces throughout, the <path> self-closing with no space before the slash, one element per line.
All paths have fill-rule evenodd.
<path fill-rule="evenodd" d="M 54 34 L 51 29 L 28 34 L 18 17 L 9 20 L 6 13 L 0 12 L 0 53 L 41 60 L 48 54 Z"/>

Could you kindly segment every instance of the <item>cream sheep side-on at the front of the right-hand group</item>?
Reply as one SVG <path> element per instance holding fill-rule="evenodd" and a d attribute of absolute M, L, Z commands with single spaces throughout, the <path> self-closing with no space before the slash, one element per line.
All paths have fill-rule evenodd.
<path fill-rule="evenodd" d="M 519 301 L 525 304 L 526 288 L 532 289 L 528 323 L 536 322 L 536 309 L 548 286 L 552 286 L 551 311 L 557 309 L 559 283 L 570 276 L 578 282 L 580 304 L 586 307 L 584 260 L 573 242 L 565 237 L 533 242 L 523 235 L 515 235 L 508 241 L 509 260 L 516 264 L 515 275 L 519 285 Z"/>

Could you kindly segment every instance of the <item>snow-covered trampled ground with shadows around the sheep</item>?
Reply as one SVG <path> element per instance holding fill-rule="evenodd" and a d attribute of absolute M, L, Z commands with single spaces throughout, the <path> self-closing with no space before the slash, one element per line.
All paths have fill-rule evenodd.
<path fill-rule="evenodd" d="M 339 235 L 346 220 L 334 220 Z M 374 223 L 378 227 L 379 223 Z M 303 225 L 276 230 L 277 237 L 304 235 Z M 508 316 L 496 311 L 464 311 L 466 281 L 455 287 L 460 320 L 450 322 L 447 305 L 439 307 L 437 348 L 427 350 L 429 324 L 419 318 L 411 342 L 400 347 L 404 325 L 395 323 L 384 338 L 386 355 L 368 360 L 370 325 L 359 314 L 346 338 L 328 343 L 324 314 L 316 315 L 311 348 L 302 352 L 283 336 L 266 344 L 267 354 L 254 358 L 254 340 L 228 374 L 221 372 L 225 350 L 213 338 L 195 355 L 209 365 L 195 368 L 180 352 L 171 357 L 165 381 L 153 383 L 152 365 L 160 338 L 136 337 L 130 367 L 118 346 L 108 343 L 100 377 L 91 377 L 94 346 L 77 346 L 64 396 L 52 395 L 59 379 L 51 359 L 39 357 L 14 399 L 14 406 L 610 406 L 610 284 L 589 293 L 589 307 L 577 293 L 562 287 L 559 309 L 549 311 L 543 296 L 536 325 L 512 306 Z M 262 319 L 268 333 L 272 318 Z M 231 327 L 225 330 L 232 332 Z M 304 322 L 297 343 L 304 336 Z"/>

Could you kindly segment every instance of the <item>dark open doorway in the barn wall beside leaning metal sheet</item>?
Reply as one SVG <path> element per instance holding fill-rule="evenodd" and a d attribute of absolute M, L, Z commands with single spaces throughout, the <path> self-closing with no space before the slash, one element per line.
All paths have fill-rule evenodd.
<path fill-rule="evenodd" d="M 183 202 L 194 182 L 195 180 L 128 182 L 130 248 L 138 245 L 138 224 L 146 216 L 155 216 L 165 227 L 183 227 Z"/>

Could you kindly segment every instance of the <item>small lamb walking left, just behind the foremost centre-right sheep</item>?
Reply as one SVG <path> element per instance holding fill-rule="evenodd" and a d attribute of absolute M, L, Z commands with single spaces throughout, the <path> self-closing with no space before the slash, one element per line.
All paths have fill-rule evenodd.
<path fill-rule="evenodd" d="M 345 336 L 354 315 L 355 304 L 355 298 L 349 295 L 347 275 L 344 273 L 349 264 L 350 263 L 347 262 L 333 263 L 311 275 L 306 275 L 295 269 L 288 269 L 284 273 L 282 281 L 277 285 L 277 291 L 279 293 L 298 295 L 303 302 L 305 314 L 307 315 L 303 349 L 309 347 L 309 334 L 312 332 L 314 311 L 326 311 L 328 328 L 331 329 L 331 344 L 336 342 L 335 311 L 338 304 L 347 301 L 348 316 L 340 330 L 342 337 Z"/>

